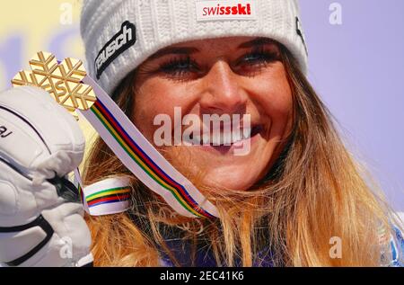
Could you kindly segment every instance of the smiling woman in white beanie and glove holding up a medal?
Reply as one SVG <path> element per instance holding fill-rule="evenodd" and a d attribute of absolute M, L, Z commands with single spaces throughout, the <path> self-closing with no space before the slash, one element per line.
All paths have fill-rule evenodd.
<path fill-rule="evenodd" d="M 84 221 L 65 177 L 83 159 L 81 130 L 46 91 L 13 88 L 0 94 L 1 264 L 403 264 L 400 221 L 305 77 L 296 1 L 87 0 L 82 35 L 89 74 L 107 93 L 94 85 L 87 115 L 125 111 L 125 128 L 141 132 L 126 139 L 147 146 L 139 156 L 154 153 L 150 169 L 183 196 L 154 189 L 165 181 L 149 183 L 99 129 L 105 142 L 84 165 Z"/>

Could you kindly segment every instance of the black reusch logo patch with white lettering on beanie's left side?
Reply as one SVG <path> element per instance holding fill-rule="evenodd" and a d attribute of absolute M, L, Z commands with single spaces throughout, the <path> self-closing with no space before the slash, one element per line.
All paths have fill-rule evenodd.
<path fill-rule="evenodd" d="M 122 23 L 120 31 L 115 34 L 100 50 L 95 58 L 95 72 L 97 79 L 100 79 L 102 72 L 115 58 L 136 43 L 136 27 L 131 22 Z"/>

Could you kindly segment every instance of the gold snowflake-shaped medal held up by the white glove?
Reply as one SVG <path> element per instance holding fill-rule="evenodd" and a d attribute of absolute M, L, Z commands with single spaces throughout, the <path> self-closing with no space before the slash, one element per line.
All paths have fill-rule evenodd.
<path fill-rule="evenodd" d="M 84 85 L 87 76 L 83 62 L 65 58 L 58 62 L 54 55 L 40 51 L 30 60 L 30 71 L 20 71 L 12 80 L 13 86 L 38 86 L 52 95 L 78 120 L 76 110 L 88 110 L 97 100 L 92 86 Z"/>

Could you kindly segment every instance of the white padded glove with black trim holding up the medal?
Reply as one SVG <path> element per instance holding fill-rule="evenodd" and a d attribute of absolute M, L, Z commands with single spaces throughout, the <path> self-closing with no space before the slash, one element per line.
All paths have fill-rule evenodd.
<path fill-rule="evenodd" d="M 83 160 L 75 118 L 37 87 L 0 94 L 0 263 L 83 266 L 91 235 L 75 186 Z"/>

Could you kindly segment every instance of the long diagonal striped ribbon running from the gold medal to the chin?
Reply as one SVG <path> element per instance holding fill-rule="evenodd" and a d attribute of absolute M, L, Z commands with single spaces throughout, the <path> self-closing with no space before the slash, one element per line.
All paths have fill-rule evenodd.
<path fill-rule="evenodd" d="M 92 86 L 97 101 L 90 110 L 78 111 L 79 114 L 92 124 L 127 169 L 181 215 L 218 217 L 215 206 L 150 144 L 91 77 L 86 76 L 83 83 Z"/>

